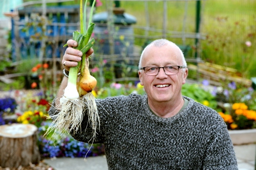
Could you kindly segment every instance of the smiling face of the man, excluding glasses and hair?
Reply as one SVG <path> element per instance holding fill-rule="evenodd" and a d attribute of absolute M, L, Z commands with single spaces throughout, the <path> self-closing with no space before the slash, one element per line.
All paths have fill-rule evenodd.
<path fill-rule="evenodd" d="M 165 67 L 182 66 L 182 58 L 179 50 L 174 45 L 164 45 L 162 47 L 150 46 L 143 54 L 142 67 Z M 186 82 L 186 71 L 179 69 L 174 75 L 166 75 L 161 68 L 158 75 L 146 75 L 144 70 L 138 72 L 140 84 L 144 86 L 148 94 L 148 102 L 175 102 L 181 98 L 181 87 Z M 159 87 L 158 85 L 165 85 Z"/>

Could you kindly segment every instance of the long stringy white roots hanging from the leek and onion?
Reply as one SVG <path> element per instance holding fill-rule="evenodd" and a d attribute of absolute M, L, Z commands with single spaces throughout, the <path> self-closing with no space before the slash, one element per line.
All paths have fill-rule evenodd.
<path fill-rule="evenodd" d="M 53 121 L 45 135 L 52 131 L 54 134 L 61 132 L 66 136 L 70 133 L 77 133 L 81 130 L 83 108 L 86 107 L 88 112 L 88 123 L 90 123 L 93 131 L 93 136 L 89 141 L 92 140 L 91 143 L 93 143 L 97 134 L 97 125 L 100 126 L 97 105 L 93 94 L 89 92 L 83 97 L 74 100 L 62 97 L 60 98 L 60 103 L 62 109 L 58 114 L 51 117 Z"/>

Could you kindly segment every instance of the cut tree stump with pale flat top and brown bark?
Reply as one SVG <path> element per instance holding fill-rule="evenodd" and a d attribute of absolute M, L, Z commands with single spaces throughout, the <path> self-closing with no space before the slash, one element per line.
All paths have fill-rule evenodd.
<path fill-rule="evenodd" d="M 40 153 L 37 127 L 31 124 L 0 125 L 0 166 L 18 168 L 37 164 Z"/>

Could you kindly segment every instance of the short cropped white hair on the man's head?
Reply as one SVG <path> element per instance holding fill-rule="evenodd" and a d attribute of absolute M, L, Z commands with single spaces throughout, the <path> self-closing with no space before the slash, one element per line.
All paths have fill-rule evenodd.
<path fill-rule="evenodd" d="M 187 62 L 185 60 L 185 57 L 184 57 L 182 51 L 180 50 L 180 48 L 176 44 L 174 44 L 171 41 L 168 41 L 167 39 L 158 39 L 158 40 L 153 41 L 152 43 L 150 43 L 149 45 L 147 45 L 144 48 L 144 50 L 142 51 L 142 53 L 140 55 L 138 69 L 140 69 L 142 67 L 141 64 L 142 64 L 143 58 L 145 57 L 144 54 L 145 54 L 145 52 L 148 51 L 148 49 L 150 49 L 150 47 L 152 47 L 152 46 L 154 46 L 154 47 L 162 47 L 162 46 L 165 46 L 165 45 L 169 45 L 170 48 L 173 48 L 174 50 L 177 50 L 178 51 L 178 55 L 180 55 L 179 57 L 182 60 L 182 65 L 187 67 Z"/>

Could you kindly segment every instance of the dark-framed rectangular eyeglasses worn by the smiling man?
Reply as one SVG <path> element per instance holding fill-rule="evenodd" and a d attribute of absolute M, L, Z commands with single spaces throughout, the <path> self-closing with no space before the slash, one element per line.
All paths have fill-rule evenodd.
<path fill-rule="evenodd" d="M 165 67 L 142 67 L 139 70 L 144 70 L 145 74 L 150 76 L 158 75 L 160 68 L 163 68 L 166 75 L 177 74 L 178 70 L 181 68 L 186 68 L 185 66 L 165 66 Z"/>

